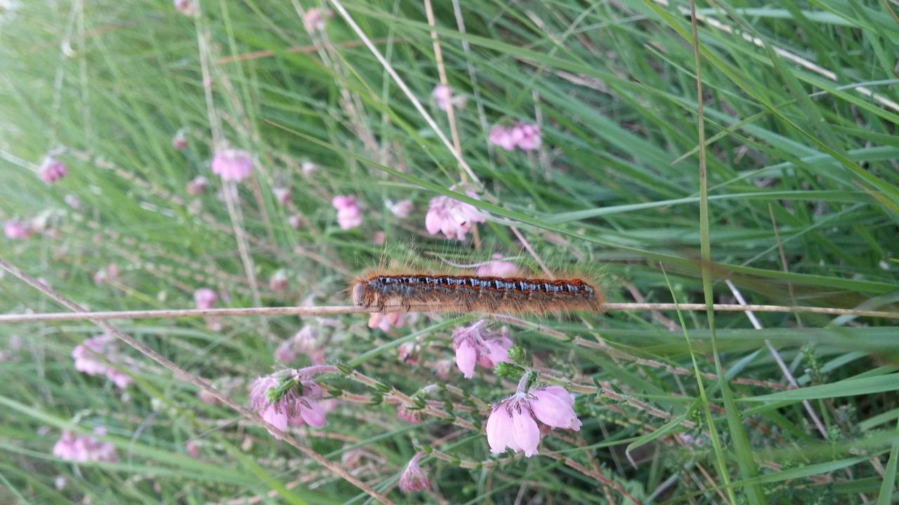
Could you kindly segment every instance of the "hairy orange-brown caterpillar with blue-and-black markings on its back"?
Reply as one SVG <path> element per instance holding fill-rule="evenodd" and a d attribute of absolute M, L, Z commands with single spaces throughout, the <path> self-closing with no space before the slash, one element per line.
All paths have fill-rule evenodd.
<path fill-rule="evenodd" d="M 600 312 L 602 301 L 601 290 L 583 279 L 373 271 L 352 282 L 352 303 L 379 309 L 424 304 L 432 312 Z"/>

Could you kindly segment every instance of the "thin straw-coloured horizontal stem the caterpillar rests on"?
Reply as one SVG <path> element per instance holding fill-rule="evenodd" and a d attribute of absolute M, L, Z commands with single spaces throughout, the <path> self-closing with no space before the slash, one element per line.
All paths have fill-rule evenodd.
<path fill-rule="evenodd" d="M 675 304 L 633 304 L 613 303 L 603 305 L 605 312 L 674 310 Z M 776 312 L 776 313 L 809 313 L 825 315 L 856 315 L 864 317 L 882 317 L 899 319 L 899 312 L 877 310 L 860 310 L 850 308 L 814 307 L 814 306 L 765 306 L 739 304 L 715 304 L 712 308 L 718 312 Z M 49 314 L 4 314 L 0 315 L 0 323 L 30 323 L 34 321 L 82 321 L 85 319 L 175 319 L 180 317 L 205 316 L 247 316 L 247 315 L 339 315 L 339 314 L 372 314 L 376 312 L 447 312 L 466 313 L 464 306 L 280 306 L 280 307 L 244 307 L 244 308 L 211 308 L 202 309 L 164 309 L 164 310 L 123 310 L 115 312 L 49 313 Z M 703 311 L 705 304 L 682 304 L 681 310 Z M 506 315 L 492 315 L 503 320 Z M 542 328 L 542 326 L 541 326 Z M 565 337 L 567 338 L 567 337 Z"/>

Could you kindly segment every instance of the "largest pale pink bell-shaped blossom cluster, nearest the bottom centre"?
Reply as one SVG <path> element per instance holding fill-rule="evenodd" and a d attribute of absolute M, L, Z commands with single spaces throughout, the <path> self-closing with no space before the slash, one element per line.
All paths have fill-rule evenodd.
<path fill-rule="evenodd" d="M 509 447 L 526 457 L 534 456 L 540 442 L 538 421 L 550 428 L 581 430 L 573 407 L 574 396 L 564 387 L 550 385 L 525 393 L 520 385 L 519 391 L 495 405 L 487 418 L 490 452 L 502 454 Z"/>

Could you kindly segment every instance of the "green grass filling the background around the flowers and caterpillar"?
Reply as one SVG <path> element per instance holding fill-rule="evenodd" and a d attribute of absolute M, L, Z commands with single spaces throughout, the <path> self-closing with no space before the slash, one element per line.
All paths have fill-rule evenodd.
<path fill-rule="evenodd" d="M 340 13 L 327 20 L 327 49 L 289 50 L 321 41 L 304 30 L 299 4 L 314 6 L 204 1 L 196 20 L 155 0 L 16 7 L 0 22 L 0 221 L 43 217 L 49 231 L 0 236 L 0 257 L 93 310 L 191 307 L 202 287 L 227 293 L 218 306 L 254 306 L 247 268 L 265 306 L 345 305 L 353 273 L 411 248 L 463 263 L 501 253 L 535 267 L 514 226 L 551 265 L 601 270 L 612 302 L 634 301 L 630 287 L 647 302 L 733 303 L 730 279 L 751 304 L 899 310 L 899 6 L 699 3 L 694 48 L 686 0 L 463 2 L 464 32 L 451 2 L 433 3 L 430 27 L 423 3 L 341 0 L 449 138 L 431 99 L 438 34 L 449 85 L 468 98 L 455 116 L 461 156 L 481 182 L 468 178 L 479 190 L 472 199 L 448 146 Z M 262 50 L 271 54 L 236 58 Z M 488 145 L 495 124 L 537 117 L 539 153 Z M 171 146 L 180 128 L 184 151 Z M 253 180 L 238 185 L 238 218 L 209 171 L 217 139 L 256 160 Z M 35 171 L 58 147 L 70 174 L 48 186 Z M 307 161 L 317 173 L 303 174 Z M 209 190 L 192 197 L 185 185 L 197 175 Z M 292 207 L 276 187 L 292 190 Z M 470 235 L 452 244 L 427 235 L 424 213 L 441 194 L 489 213 L 479 248 Z M 337 226 L 334 195 L 359 199 L 362 226 Z M 415 210 L 399 219 L 387 199 L 412 199 Z M 378 231 L 385 246 L 374 244 Z M 249 263 L 237 246 L 244 235 Z M 111 263 L 120 278 L 95 284 Z M 267 280 L 280 269 L 289 290 L 272 291 Z M 0 279 L 0 312 L 62 310 L 11 275 Z M 338 400 L 325 428 L 298 439 L 396 502 L 628 502 L 621 491 L 659 503 L 897 499 L 895 320 L 756 313 L 753 329 L 742 313 L 678 315 L 610 311 L 513 326 L 548 374 L 580 385 L 583 429 L 544 437 L 540 456 L 500 463 L 480 432 L 483 403 L 511 394 L 517 377 L 435 373 L 453 357 L 452 329 L 472 318 L 423 316 L 386 333 L 363 315 L 340 315 L 322 332 L 326 360 L 378 385 L 320 377 L 369 402 Z M 201 319 L 116 324 L 221 386 L 280 368 L 280 342 L 317 322 L 222 323 L 220 332 Z M 100 332 L 87 322 L 0 325 L 0 501 L 369 501 L 134 350 L 123 350 L 138 363 L 127 390 L 76 371 L 72 349 Z M 766 340 L 802 389 L 770 387 L 787 381 Z M 406 341 L 421 344 L 416 365 L 396 357 Z M 476 430 L 428 416 L 411 426 L 379 401 L 390 388 L 413 395 L 426 385 L 458 387 L 428 397 Z M 247 393 L 245 384 L 230 392 L 244 404 Z M 118 463 L 52 455 L 61 430 L 96 426 L 107 428 Z M 430 449 L 439 451 L 423 460 L 434 491 L 399 492 L 406 462 Z"/>

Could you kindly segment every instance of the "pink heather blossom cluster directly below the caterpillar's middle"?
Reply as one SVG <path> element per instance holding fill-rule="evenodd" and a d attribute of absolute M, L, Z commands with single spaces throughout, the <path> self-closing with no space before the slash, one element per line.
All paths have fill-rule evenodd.
<path fill-rule="evenodd" d="M 456 366 L 465 378 L 475 377 L 475 364 L 494 368 L 496 363 L 509 363 L 510 347 L 512 339 L 509 338 L 508 328 L 503 326 L 499 332 L 492 331 L 485 319 L 452 332 Z"/>

